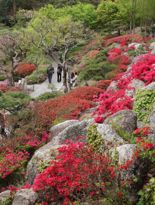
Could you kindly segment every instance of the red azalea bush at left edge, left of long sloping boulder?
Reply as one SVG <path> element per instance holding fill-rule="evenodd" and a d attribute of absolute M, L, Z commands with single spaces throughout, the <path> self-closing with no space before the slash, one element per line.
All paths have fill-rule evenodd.
<path fill-rule="evenodd" d="M 29 135 L 18 137 L 15 141 L 3 140 L 0 147 L 0 188 L 12 183 L 13 181 L 10 181 L 8 177 L 12 176 L 14 179 L 16 171 L 23 171 L 34 151 L 47 141 L 48 134 L 46 132 L 42 134 L 42 137 Z M 5 181 L 1 182 L 2 179 Z"/>

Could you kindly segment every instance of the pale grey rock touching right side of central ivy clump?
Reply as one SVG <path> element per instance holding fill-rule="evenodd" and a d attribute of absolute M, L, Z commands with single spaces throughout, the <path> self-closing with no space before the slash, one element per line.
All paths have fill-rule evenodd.
<path fill-rule="evenodd" d="M 120 145 L 124 140 L 112 129 L 111 125 L 98 124 L 97 131 L 101 134 L 105 145 L 111 143 L 112 145 Z"/>

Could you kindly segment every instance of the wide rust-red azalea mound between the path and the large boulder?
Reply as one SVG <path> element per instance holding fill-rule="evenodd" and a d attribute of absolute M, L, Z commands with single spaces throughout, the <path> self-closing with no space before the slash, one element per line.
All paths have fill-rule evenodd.
<path fill-rule="evenodd" d="M 55 119 L 77 119 L 84 110 L 92 107 L 94 96 L 102 92 L 100 88 L 85 86 L 65 96 L 36 103 L 37 126 L 49 128 Z"/>

